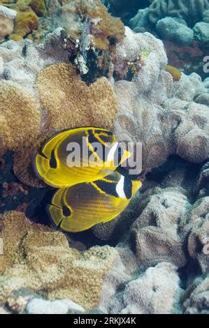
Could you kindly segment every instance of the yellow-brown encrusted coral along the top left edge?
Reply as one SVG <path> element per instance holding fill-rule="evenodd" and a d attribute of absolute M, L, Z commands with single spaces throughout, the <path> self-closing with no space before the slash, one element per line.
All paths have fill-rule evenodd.
<path fill-rule="evenodd" d="M 1 4 L 1 1 L 0 1 Z M 47 4 L 47 6 L 46 6 Z M 10 39 L 29 37 L 38 42 L 57 26 L 66 29 L 69 40 L 81 39 L 85 19 L 89 20 L 89 31 L 98 49 L 107 50 L 111 44 L 122 41 L 124 25 L 119 18 L 112 17 L 100 0 L 17 0 L 4 3 L 17 11 L 15 30 Z M 90 24 L 91 22 L 91 24 Z"/>

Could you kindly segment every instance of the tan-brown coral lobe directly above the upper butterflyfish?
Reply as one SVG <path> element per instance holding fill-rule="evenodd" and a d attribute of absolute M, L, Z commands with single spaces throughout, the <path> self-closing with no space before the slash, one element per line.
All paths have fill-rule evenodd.
<path fill-rule="evenodd" d="M 42 70 L 36 87 L 42 105 L 48 110 L 50 128 L 113 126 L 117 101 L 105 78 L 87 87 L 70 64 L 62 63 Z"/>

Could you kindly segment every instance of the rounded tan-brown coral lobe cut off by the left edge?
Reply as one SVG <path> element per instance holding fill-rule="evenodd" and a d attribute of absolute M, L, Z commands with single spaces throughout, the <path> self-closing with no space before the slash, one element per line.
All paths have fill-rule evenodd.
<path fill-rule="evenodd" d="M 35 98 L 20 85 L 0 82 L 0 131 L 7 149 L 21 149 L 36 142 L 41 112 Z"/>

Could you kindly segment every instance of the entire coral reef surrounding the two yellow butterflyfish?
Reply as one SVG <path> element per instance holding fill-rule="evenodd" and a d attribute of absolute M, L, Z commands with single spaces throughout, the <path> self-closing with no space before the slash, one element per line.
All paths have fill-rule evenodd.
<path fill-rule="evenodd" d="M 0 313 L 207 313 L 208 80 L 168 66 L 151 33 L 126 27 L 124 37 L 99 1 L 48 3 L 3 4 L 17 17 L 36 15 L 38 29 L 26 24 L 21 34 L 16 22 L 13 40 L 0 45 Z M 191 24 L 199 15 L 208 24 L 199 3 Z M 156 24 L 173 10 L 165 8 Z M 149 10 L 138 13 L 143 22 L 155 17 Z M 187 10 L 172 22 L 175 14 L 193 27 Z M 92 79 L 75 64 L 90 62 L 88 47 Z M 146 179 L 119 217 L 72 237 L 43 225 L 50 191 L 36 188 L 31 156 L 55 131 L 87 125 L 141 142 Z"/>

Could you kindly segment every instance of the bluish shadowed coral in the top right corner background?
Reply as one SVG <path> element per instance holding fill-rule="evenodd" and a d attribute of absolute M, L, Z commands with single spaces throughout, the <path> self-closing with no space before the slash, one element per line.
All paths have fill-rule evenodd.
<path fill-rule="evenodd" d="M 157 32 L 178 45 L 191 45 L 195 39 L 206 45 L 208 8 L 208 0 L 154 0 L 150 7 L 138 10 L 130 26 L 136 32 Z"/>

